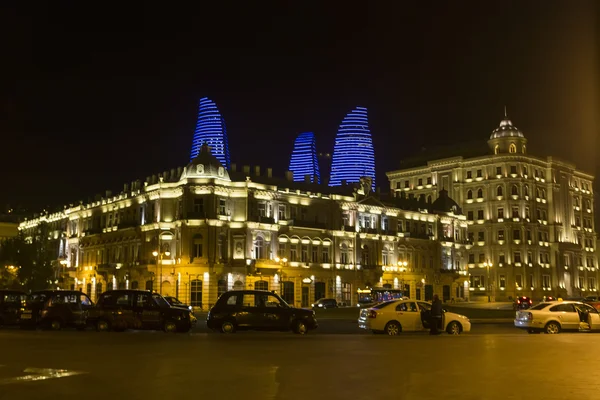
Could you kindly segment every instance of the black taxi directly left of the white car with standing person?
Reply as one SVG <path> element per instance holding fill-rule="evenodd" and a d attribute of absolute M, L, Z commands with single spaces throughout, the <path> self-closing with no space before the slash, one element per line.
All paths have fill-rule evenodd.
<path fill-rule="evenodd" d="M 266 290 L 232 290 L 219 297 L 210 309 L 206 325 L 213 331 L 293 331 L 305 334 L 318 327 L 315 312 L 288 305 Z"/>

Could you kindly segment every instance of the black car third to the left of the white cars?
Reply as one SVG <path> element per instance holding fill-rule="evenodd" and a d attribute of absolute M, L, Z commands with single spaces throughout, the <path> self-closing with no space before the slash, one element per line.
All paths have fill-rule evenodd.
<path fill-rule="evenodd" d="M 85 329 L 88 313 L 94 303 L 76 290 L 42 290 L 27 296 L 19 316 L 19 326 L 25 328 L 64 327 Z"/>

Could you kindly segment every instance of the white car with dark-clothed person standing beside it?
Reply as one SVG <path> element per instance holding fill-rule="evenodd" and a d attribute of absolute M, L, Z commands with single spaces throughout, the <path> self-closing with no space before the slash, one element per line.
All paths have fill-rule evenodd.
<path fill-rule="evenodd" d="M 400 332 L 421 332 L 429 330 L 427 316 L 431 303 L 415 300 L 391 300 L 374 307 L 363 309 L 358 317 L 358 327 L 373 333 L 397 335 Z M 422 316 L 421 313 L 424 313 Z M 471 322 L 464 315 L 445 312 L 442 318 L 443 330 L 451 335 L 471 331 Z"/>

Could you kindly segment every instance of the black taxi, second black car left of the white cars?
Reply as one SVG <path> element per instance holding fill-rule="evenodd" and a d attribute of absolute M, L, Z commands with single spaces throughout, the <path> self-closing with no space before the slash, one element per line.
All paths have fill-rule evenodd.
<path fill-rule="evenodd" d="M 98 331 L 154 329 L 188 332 L 196 318 L 188 309 L 171 307 L 158 293 L 148 290 L 109 290 L 98 297 L 88 324 Z"/>

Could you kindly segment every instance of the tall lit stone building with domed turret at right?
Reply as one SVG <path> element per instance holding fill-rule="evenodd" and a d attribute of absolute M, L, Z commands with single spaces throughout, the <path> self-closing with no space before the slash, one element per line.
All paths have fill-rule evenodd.
<path fill-rule="evenodd" d="M 506 115 L 487 154 L 423 164 L 387 173 L 391 190 L 435 199 L 444 188 L 463 208 L 474 244 L 464 282 L 472 300 L 597 293 L 592 175 L 529 155 L 527 139 Z"/>

